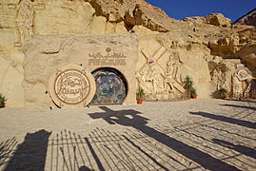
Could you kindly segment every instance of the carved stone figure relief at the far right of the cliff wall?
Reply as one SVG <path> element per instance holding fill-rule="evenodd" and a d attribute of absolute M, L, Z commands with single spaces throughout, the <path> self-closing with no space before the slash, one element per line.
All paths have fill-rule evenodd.
<path fill-rule="evenodd" d="M 244 65 L 237 65 L 237 69 L 233 75 L 233 93 L 246 96 L 249 93 L 251 85 L 252 75 L 248 68 Z M 246 87 L 243 89 L 243 83 L 246 83 Z"/>

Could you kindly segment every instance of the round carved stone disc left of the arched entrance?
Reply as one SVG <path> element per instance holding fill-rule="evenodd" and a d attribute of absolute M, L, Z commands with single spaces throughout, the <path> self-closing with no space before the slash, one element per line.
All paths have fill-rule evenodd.
<path fill-rule="evenodd" d="M 65 66 L 49 79 L 50 97 L 60 107 L 85 106 L 90 103 L 94 93 L 94 78 L 82 66 Z"/>

